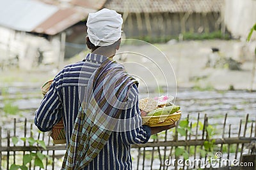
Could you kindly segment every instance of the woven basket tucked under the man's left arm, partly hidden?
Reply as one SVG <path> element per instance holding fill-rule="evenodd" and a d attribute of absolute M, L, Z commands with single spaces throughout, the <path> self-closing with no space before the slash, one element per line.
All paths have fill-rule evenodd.
<path fill-rule="evenodd" d="M 50 89 L 51 83 L 52 83 L 52 80 L 49 80 L 46 83 L 44 83 L 44 85 L 42 85 L 41 90 L 42 90 L 43 96 L 45 96 L 45 94 Z M 52 127 L 50 136 L 53 139 L 54 144 L 66 143 L 65 127 L 63 124 L 63 119 L 61 119 L 60 122 L 58 122 L 58 124 L 56 124 L 56 125 L 54 125 L 54 127 Z"/>

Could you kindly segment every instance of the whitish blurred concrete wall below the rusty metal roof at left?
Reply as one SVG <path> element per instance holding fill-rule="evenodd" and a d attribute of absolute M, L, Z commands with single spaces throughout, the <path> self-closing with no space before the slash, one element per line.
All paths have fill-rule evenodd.
<path fill-rule="evenodd" d="M 26 32 L 0 27 L 0 67 L 32 69 L 42 64 L 56 64 L 60 56 L 60 36 L 51 41 Z M 41 54 L 41 56 L 40 56 Z M 42 59 L 39 59 L 39 58 Z"/>

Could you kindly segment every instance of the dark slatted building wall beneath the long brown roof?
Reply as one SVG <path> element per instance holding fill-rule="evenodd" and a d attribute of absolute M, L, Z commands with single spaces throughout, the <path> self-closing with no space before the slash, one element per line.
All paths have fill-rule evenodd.
<path fill-rule="evenodd" d="M 123 30 L 127 38 L 164 38 L 180 33 L 220 31 L 220 13 L 129 13 Z"/>

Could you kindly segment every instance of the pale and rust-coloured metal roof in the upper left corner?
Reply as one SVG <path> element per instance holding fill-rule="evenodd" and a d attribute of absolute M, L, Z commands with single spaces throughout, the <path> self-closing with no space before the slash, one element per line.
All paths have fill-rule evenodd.
<path fill-rule="evenodd" d="M 105 2 L 72 0 L 63 7 L 56 1 L 0 0 L 0 25 L 17 31 L 54 35 L 99 10 Z"/>

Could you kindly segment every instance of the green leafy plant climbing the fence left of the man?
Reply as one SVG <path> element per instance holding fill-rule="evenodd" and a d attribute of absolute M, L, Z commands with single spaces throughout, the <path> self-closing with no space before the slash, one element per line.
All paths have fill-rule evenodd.
<path fill-rule="evenodd" d="M 19 142 L 19 140 L 22 140 L 24 142 L 27 141 L 29 143 L 29 146 L 33 146 L 36 144 L 37 146 L 41 146 L 46 150 L 45 143 L 42 140 L 34 139 L 32 137 L 19 139 L 16 136 L 14 136 L 12 138 L 13 145 L 16 145 Z M 44 155 L 41 152 L 29 152 L 28 154 L 23 156 L 22 165 L 12 164 L 10 167 L 10 170 L 17 170 L 17 169 L 28 170 L 27 165 L 31 162 L 34 162 L 35 167 L 38 166 L 44 169 L 44 164 L 43 164 L 44 159 L 50 159 L 50 157 L 48 155 Z"/>

